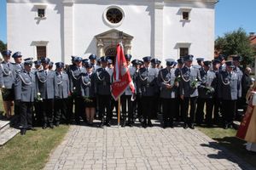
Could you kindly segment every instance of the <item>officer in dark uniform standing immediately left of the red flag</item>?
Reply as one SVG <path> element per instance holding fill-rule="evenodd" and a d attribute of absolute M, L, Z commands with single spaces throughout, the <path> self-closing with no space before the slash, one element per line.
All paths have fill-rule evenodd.
<path fill-rule="evenodd" d="M 96 70 L 95 94 L 99 99 L 99 119 L 102 121 L 100 127 L 104 124 L 111 126 L 111 92 L 110 86 L 112 77 L 108 73 L 108 57 L 101 57 L 102 68 Z M 107 110 L 106 119 L 104 119 L 105 109 Z"/>

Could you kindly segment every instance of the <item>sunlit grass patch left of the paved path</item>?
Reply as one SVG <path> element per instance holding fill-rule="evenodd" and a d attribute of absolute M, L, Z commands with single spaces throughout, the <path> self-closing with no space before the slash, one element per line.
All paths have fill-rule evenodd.
<path fill-rule="evenodd" d="M 50 151 L 61 143 L 67 130 L 68 126 L 64 125 L 45 130 L 38 127 L 37 131 L 27 131 L 24 136 L 16 135 L 0 147 L 0 169 L 42 169 Z"/>

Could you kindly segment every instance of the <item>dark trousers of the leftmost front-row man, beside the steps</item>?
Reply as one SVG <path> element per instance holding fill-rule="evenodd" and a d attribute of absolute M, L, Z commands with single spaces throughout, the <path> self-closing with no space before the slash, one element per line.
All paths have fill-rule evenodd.
<path fill-rule="evenodd" d="M 20 102 L 20 126 L 28 129 L 32 127 L 32 102 Z"/>

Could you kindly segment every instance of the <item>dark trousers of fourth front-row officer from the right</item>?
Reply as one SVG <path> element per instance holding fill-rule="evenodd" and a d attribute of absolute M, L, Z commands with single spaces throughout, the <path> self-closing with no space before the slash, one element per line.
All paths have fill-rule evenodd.
<path fill-rule="evenodd" d="M 177 113 L 177 99 L 161 99 L 163 106 L 163 122 L 173 124 L 173 117 Z"/>

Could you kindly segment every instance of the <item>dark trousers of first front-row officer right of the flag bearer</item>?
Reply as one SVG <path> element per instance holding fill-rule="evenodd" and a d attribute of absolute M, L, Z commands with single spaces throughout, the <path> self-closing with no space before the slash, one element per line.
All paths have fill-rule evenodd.
<path fill-rule="evenodd" d="M 143 119 L 144 122 L 150 121 L 152 118 L 152 108 L 153 108 L 153 103 L 154 97 L 153 96 L 143 96 L 142 97 L 142 106 L 143 106 Z"/>

